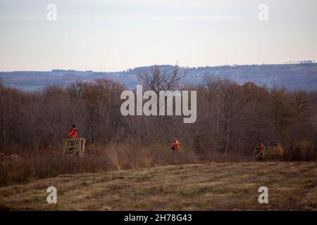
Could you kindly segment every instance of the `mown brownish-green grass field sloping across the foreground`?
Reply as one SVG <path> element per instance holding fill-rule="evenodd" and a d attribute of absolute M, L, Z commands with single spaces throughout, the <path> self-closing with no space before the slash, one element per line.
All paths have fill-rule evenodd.
<path fill-rule="evenodd" d="M 317 210 L 316 162 L 171 165 L 0 188 L 1 210 Z M 46 202 L 56 186 L 57 204 Z M 268 204 L 258 189 L 268 187 Z"/>

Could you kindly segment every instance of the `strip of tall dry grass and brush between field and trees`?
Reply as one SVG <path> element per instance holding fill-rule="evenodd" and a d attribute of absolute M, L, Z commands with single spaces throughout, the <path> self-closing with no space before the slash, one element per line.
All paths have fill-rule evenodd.
<path fill-rule="evenodd" d="M 293 150 L 276 148 L 266 152 L 266 160 L 314 160 L 316 152 L 311 143 L 302 141 Z M 250 151 L 250 153 L 252 153 Z M 0 186 L 23 184 L 61 174 L 106 172 L 118 169 L 149 168 L 161 165 L 179 165 L 206 162 L 252 162 L 252 155 L 229 151 L 228 155 L 213 149 L 197 155 L 192 148 L 182 148 L 173 153 L 168 143 L 144 146 L 137 141 L 109 143 L 106 146 L 90 145 L 80 161 L 76 155 L 64 155 L 57 147 L 44 150 L 21 150 L 11 146 L 0 152 Z"/>

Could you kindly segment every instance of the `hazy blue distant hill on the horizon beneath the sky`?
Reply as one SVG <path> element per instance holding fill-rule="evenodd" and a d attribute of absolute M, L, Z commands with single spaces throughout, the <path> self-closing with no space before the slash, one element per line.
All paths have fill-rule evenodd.
<path fill-rule="evenodd" d="M 44 86 L 58 84 L 67 86 L 76 80 L 85 82 L 94 79 L 111 79 L 129 88 L 138 83 L 139 72 L 152 66 L 134 68 L 120 72 L 93 72 L 76 70 L 52 70 L 47 72 L 15 71 L 0 72 L 4 84 L 23 90 L 43 89 Z M 159 65 L 164 70 L 172 70 L 173 65 Z M 317 63 L 276 64 L 276 65 L 223 65 L 214 67 L 184 68 L 186 84 L 199 84 L 205 75 L 231 79 L 238 84 L 251 81 L 258 85 L 286 86 L 288 89 L 317 90 Z"/>

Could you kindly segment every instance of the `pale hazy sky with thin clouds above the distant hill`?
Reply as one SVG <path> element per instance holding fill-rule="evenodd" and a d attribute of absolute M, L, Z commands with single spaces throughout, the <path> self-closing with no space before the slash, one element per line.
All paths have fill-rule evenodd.
<path fill-rule="evenodd" d="M 0 71 L 317 60 L 316 27 L 317 0 L 0 0 Z"/>

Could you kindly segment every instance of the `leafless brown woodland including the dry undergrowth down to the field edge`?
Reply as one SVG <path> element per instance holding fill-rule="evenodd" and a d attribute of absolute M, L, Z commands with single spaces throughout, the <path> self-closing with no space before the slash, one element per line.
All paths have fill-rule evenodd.
<path fill-rule="evenodd" d="M 58 174 L 198 162 L 247 162 L 259 140 L 282 141 L 270 160 L 316 158 L 317 91 L 242 86 L 211 75 L 180 85 L 185 71 L 154 68 L 139 75 L 144 89 L 197 90 L 197 121 L 181 116 L 120 114 L 127 89 L 99 79 L 67 88 L 23 92 L 0 84 L 0 186 Z M 87 140 L 84 160 L 61 158 L 63 139 L 76 124 Z M 179 155 L 170 153 L 177 137 Z"/>

